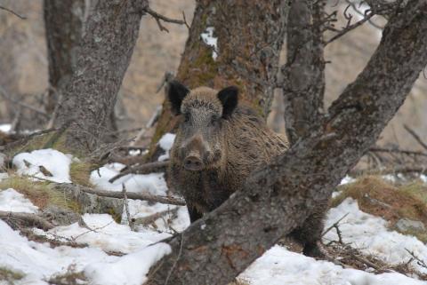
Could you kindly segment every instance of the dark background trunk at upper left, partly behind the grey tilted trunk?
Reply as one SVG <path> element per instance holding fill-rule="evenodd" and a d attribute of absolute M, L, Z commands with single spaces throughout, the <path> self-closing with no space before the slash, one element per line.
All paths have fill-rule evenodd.
<path fill-rule="evenodd" d="M 49 62 L 49 91 L 45 110 L 52 114 L 59 92 L 73 75 L 77 47 L 83 34 L 85 0 L 44 0 L 44 27 Z"/>

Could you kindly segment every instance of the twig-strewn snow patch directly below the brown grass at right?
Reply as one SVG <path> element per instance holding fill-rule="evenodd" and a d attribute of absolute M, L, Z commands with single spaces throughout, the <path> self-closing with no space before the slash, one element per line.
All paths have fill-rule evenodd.
<path fill-rule="evenodd" d="M 407 262 L 411 256 L 407 250 L 414 252 L 417 257 L 427 257 L 427 246 L 414 236 L 399 234 L 387 228 L 388 222 L 359 210 L 358 202 L 352 198 L 345 199 L 336 208 L 328 211 L 326 228 L 333 225 L 344 215 L 339 224 L 342 241 L 361 252 L 374 255 L 391 265 Z M 324 236 L 325 241 L 337 241 L 338 235 L 334 230 Z M 407 249 L 407 250 L 406 250 Z M 420 273 L 427 269 L 412 261 L 411 265 Z"/>

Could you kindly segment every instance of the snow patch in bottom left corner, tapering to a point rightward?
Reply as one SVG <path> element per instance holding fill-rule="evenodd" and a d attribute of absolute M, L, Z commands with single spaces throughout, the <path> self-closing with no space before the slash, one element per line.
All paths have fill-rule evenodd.
<path fill-rule="evenodd" d="M 118 259 L 101 249 L 66 246 L 52 249 L 49 244 L 28 241 L 0 220 L 0 266 L 24 273 L 20 284 L 47 284 L 53 274 L 66 273 L 70 265 L 81 271 L 86 265 Z"/>

